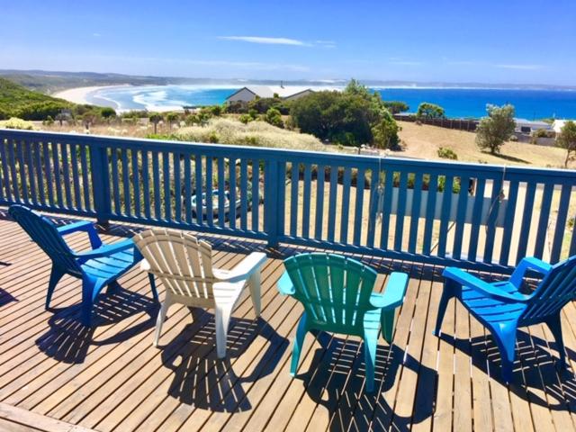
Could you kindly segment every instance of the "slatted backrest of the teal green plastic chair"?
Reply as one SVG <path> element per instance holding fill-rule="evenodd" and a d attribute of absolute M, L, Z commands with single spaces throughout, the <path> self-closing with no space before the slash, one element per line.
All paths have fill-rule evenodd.
<path fill-rule="evenodd" d="M 293 282 L 294 297 L 302 302 L 309 318 L 325 329 L 358 333 L 363 329 L 376 273 L 354 259 L 313 253 L 284 261 Z"/>

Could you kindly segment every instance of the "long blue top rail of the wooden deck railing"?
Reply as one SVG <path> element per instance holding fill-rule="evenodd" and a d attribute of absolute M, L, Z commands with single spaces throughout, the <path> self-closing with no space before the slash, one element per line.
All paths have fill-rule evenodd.
<path fill-rule="evenodd" d="M 347 155 L 341 153 L 320 152 L 311 150 L 293 150 L 283 148 L 260 148 L 246 147 L 238 145 L 209 144 L 199 142 L 185 142 L 165 139 L 143 139 L 129 137 L 112 137 L 106 135 L 86 135 L 82 133 L 58 133 L 39 130 L 13 130 L 0 129 L 0 138 L 20 138 L 20 139 L 53 139 L 64 142 L 74 141 L 76 144 L 99 145 L 99 146 L 117 146 L 122 148 L 147 148 L 148 150 L 157 151 L 181 151 L 184 153 L 208 153 L 215 156 L 229 155 L 234 153 L 237 157 L 258 157 L 297 161 L 310 161 L 311 163 L 322 164 L 327 166 L 338 166 L 344 164 L 348 166 L 398 166 L 399 169 L 406 171 L 407 168 L 413 168 L 419 172 L 427 170 L 446 170 L 449 172 L 470 170 L 478 174 L 488 174 L 502 172 L 506 168 L 508 174 L 518 175 L 537 175 L 545 177 L 562 177 L 564 180 L 576 181 L 576 170 L 558 169 L 558 168 L 541 168 L 526 166 L 504 166 L 493 164 L 475 164 L 470 162 L 452 162 L 452 161 L 431 161 L 409 157 L 375 157 L 365 155 Z"/>

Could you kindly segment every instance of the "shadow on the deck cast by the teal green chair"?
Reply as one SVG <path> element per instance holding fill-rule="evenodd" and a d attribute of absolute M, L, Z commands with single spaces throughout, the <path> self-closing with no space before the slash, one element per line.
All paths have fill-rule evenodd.
<path fill-rule="evenodd" d="M 328 410 L 329 430 L 392 428 L 404 431 L 410 430 L 412 424 L 434 414 L 437 372 L 421 365 L 414 357 L 405 355 L 399 347 L 378 346 L 375 389 L 368 393 L 365 392 L 362 342 L 330 338 L 329 334 L 322 332 L 317 341 L 321 347 L 316 349 L 310 368 L 298 374 L 297 379 L 303 379 L 308 397 Z M 399 378 L 397 375 L 402 363 L 404 368 L 418 374 L 419 392 L 426 392 L 431 396 L 412 396 L 414 401 L 418 401 L 418 406 L 415 402 L 413 410 L 407 416 L 397 415 L 394 407 L 384 398 L 385 392 L 389 391 Z"/>

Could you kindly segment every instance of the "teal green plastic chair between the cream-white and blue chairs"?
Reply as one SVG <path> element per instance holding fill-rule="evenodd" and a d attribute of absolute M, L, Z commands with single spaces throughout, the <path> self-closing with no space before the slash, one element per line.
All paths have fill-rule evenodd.
<path fill-rule="evenodd" d="M 404 301 L 408 275 L 392 273 L 383 294 L 373 293 L 376 272 L 354 259 L 331 254 L 302 254 L 284 261 L 278 290 L 304 306 L 294 339 L 290 373 L 296 374 L 306 333 L 330 331 L 364 340 L 366 391 L 374 391 L 374 365 L 381 322 L 392 343 L 394 310 Z"/>

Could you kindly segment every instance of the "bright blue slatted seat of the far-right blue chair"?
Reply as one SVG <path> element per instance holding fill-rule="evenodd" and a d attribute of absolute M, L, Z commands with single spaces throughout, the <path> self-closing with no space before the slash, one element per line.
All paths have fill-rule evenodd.
<path fill-rule="evenodd" d="M 498 282 L 491 284 L 498 287 L 499 290 L 505 293 L 516 293 L 516 287 L 509 283 Z M 527 308 L 526 303 L 510 303 L 498 299 L 494 299 L 470 288 L 469 286 L 462 287 L 462 302 L 469 311 L 473 311 L 482 320 L 486 322 L 502 322 L 509 320 L 518 320 Z"/>

